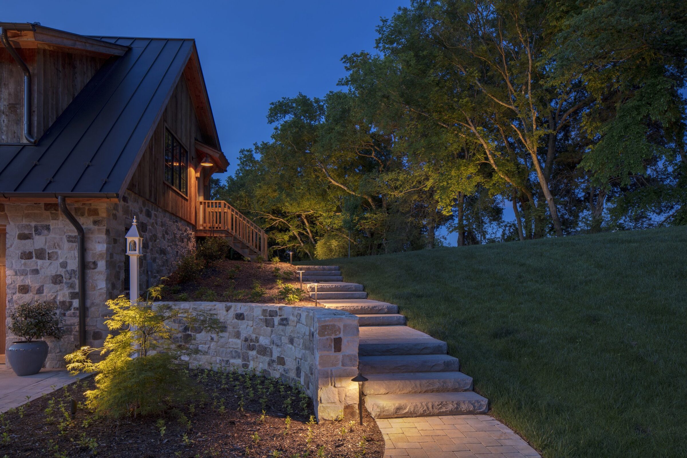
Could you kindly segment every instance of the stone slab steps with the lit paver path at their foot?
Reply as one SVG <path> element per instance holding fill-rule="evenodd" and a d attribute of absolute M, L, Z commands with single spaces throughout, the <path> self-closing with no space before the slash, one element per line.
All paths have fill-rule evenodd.
<path fill-rule="evenodd" d="M 317 281 L 328 308 L 359 317 L 359 369 L 365 407 L 385 439 L 385 457 L 539 457 L 521 437 L 489 415 L 458 358 L 444 341 L 409 328 L 398 306 L 367 299 L 360 284 L 344 283 L 338 266 L 301 266 Z M 315 288 L 309 284 L 311 297 Z"/>

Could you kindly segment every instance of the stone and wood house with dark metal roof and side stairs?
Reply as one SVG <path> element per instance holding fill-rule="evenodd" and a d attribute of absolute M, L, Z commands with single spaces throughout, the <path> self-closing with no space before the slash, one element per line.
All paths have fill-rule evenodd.
<path fill-rule="evenodd" d="M 192 39 L 81 36 L 0 23 L 0 362 L 6 311 L 51 301 L 67 336 L 48 367 L 102 343 L 128 289 L 124 234 L 144 238 L 141 290 L 196 238 L 267 256 L 264 231 L 210 198 L 227 169 Z"/>

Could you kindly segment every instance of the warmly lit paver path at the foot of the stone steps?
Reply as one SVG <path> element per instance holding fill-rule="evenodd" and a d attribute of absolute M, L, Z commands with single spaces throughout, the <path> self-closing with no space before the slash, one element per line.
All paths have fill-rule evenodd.
<path fill-rule="evenodd" d="M 489 415 L 389 418 L 376 420 L 384 436 L 384 457 L 539 457 L 508 426 Z"/>

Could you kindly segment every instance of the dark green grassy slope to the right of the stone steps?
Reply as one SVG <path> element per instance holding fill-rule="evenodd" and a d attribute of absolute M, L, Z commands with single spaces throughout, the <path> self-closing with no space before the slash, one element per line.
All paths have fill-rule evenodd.
<path fill-rule="evenodd" d="M 687 228 L 339 264 L 449 343 L 545 457 L 687 456 Z"/>

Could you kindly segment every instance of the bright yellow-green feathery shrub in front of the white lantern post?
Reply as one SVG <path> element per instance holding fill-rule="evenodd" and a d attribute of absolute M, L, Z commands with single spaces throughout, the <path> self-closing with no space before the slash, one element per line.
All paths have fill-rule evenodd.
<path fill-rule="evenodd" d="M 151 288 L 160 299 L 159 288 Z M 131 304 L 124 296 L 107 301 L 112 317 L 105 321 L 113 331 L 102 348 L 83 347 L 65 356 L 71 374 L 97 372 L 95 389 L 87 391 L 86 404 L 98 415 L 159 414 L 199 396 L 197 385 L 188 377 L 183 358 L 199 350 L 172 327 L 193 327 L 220 332 L 221 321 L 204 310 L 179 310 L 169 304 L 139 301 Z M 89 355 L 105 358 L 93 363 Z"/>

